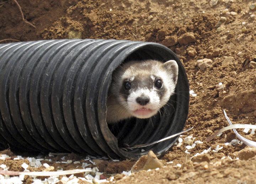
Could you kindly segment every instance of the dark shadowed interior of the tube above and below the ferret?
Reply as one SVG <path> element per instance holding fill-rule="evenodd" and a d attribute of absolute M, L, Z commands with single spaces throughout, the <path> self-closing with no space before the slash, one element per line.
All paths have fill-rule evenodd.
<path fill-rule="evenodd" d="M 170 60 L 170 58 L 165 59 L 163 56 L 152 53 L 151 51 L 146 52 L 144 49 L 129 55 L 124 63 L 130 60 L 147 59 L 155 59 L 162 62 Z M 174 114 L 176 105 L 176 94 L 174 94 L 169 99 L 167 105 L 161 108 L 161 115 L 158 113 L 149 119 L 131 118 L 120 121 L 114 125 L 108 125 L 109 129 L 118 140 L 118 147 L 122 148 L 127 145 L 146 144 L 164 138 L 167 134 L 167 130 L 169 130 L 172 125 L 172 115 Z M 145 150 L 145 152 L 148 152 L 153 146 L 154 145 L 144 148 L 135 148 L 133 150 L 127 149 L 127 151 L 138 153 Z"/>

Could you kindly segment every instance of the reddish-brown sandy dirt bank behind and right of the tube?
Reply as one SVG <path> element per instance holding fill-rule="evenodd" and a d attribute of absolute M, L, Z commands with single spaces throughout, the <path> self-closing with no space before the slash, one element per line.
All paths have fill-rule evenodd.
<path fill-rule="evenodd" d="M 0 2 L 4 2 L 0 0 Z M 174 146 L 161 158 L 167 166 L 159 171 L 138 172 L 120 183 L 254 183 L 256 159 L 236 160 L 244 144 L 226 146 L 236 139 L 232 131 L 206 142 L 206 137 L 228 125 L 222 110 L 233 123 L 256 123 L 256 14 L 247 0 L 20 0 L 24 23 L 14 2 L 0 7 L 0 40 L 20 41 L 62 38 L 129 39 L 158 42 L 172 49 L 185 66 L 191 96 L 185 128 L 188 135 L 200 140 L 185 153 L 188 144 Z M 4 42 L 7 43 L 8 41 Z M 210 59 L 206 69 L 197 60 Z M 253 62 L 251 62 L 253 61 Z M 219 83 L 222 85 L 219 85 Z M 256 141 L 256 134 L 239 131 Z M 196 153 L 216 146 L 207 161 L 191 161 Z M 230 157 L 221 159 L 223 156 Z M 173 162 L 173 163 L 170 163 Z M 16 161 L 10 161 L 16 162 Z M 167 164 L 169 162 L 169 164 Z M 0 164 L 2 161 L 0 161 Z M 11 163 L 10 163 L 11 164 Z M 129 170 L 133 163 L 105 162 L 108 174 Z M 114 163 L 116 164 L 116 163 Z M 181 168 L 176 164 L 183 164 Z M 68 167 L 70 169 L 70 167 Z M 72 168 L 72 167 L 71 167 Z M 109 170 L 108 170 L 109 169 Z M 31 182 L 31 180 L 27 180 Z"/>

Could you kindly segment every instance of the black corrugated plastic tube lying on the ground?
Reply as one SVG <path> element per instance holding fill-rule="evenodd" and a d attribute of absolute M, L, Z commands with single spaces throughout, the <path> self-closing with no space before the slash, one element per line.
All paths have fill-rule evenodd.
<path fill-rule="evenodd" d="M 106 123 L 112 72 L 128 60 L 176 60 L 175 95 L 161 116 Z M 188 115 L 189 86 L 181 61 L 164 45 L 102 39 L 39 40 L 0 44 L 0 148 L 76 152 L 111 158 L 164 154 Z"/>

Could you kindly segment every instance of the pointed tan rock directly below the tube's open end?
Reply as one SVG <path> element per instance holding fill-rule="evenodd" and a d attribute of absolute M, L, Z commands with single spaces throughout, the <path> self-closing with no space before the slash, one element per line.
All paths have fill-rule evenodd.
<path fill-rule="evenodd" d="M 156 168 L 163 168 L 163 164 L 153 151 L 149 151 L 148 155 L 140 157 L 140 159 L 133 165 L 131 172 Z"/>

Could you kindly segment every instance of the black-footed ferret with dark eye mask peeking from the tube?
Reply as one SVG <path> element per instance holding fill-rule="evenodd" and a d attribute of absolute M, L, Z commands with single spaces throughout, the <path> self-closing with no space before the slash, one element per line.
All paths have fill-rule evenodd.
<path fill-rule="evenodd" d="M 175 91 L 178 65 L 175 60 L 129 61 L 117 67 L 107 98 L 108 124 L 136 117 L 150 118 Z"/>

